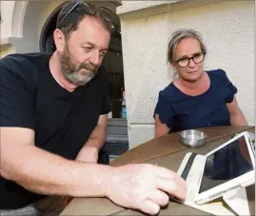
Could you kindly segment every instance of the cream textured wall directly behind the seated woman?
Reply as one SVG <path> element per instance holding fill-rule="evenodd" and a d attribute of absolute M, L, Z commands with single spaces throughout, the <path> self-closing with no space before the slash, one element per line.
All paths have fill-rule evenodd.
<path fill-rule="evenodd" d="M 166 63 L 167 40 L 180 28 L 201 31 L 208 49 L 206 69 L 226 70 L 239 89 L 240 108 L 254 125 L 254 1 L 172 12 L 172 5 L 167 7 L 170 12 L 145 18 L 121 14 L 130 146 L 153 138 L 158 92 L 172 80 Z"/>

